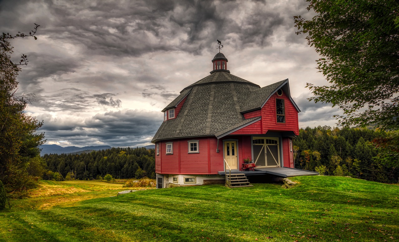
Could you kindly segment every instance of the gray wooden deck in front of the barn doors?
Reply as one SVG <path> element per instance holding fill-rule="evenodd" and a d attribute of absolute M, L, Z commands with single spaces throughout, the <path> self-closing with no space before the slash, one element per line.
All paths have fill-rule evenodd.
<path fill-rule="evenodd" d="M 219 175 L 225 175 L 225 171 L 218 171 Z M 227 172 L 228 173 L 228 172 Z M 318 175 L 316 171 L 306 171 L 288 167 L 255 168 L 255 171 L 237 171 L 231 173 L 244 173 L 245 175 L 275 175 L 278 177 L 296 177 L 302 175 Z"/>

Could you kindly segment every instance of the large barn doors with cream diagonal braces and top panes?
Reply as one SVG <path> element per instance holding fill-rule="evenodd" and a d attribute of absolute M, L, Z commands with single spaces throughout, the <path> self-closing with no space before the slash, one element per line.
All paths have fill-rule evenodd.
<path fill-rule="evenodd" d="M 280 167 L 279 138 L 253 137 L 252 148 L 257 167 Z"/>

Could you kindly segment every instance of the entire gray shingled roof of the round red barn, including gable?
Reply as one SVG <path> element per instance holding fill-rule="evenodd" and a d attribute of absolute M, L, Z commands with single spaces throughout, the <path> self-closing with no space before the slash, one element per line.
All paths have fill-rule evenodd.
<path fill-rule="evenodd" d="M 186 97 L 177 117 L 164 121 L 151 142 L 223 136 L 226 132 L 257 120 L 245 120 L 243 113 L 261 108 L 271 94 L 282 87 L 286 92 L 288 79 L 260 88 L 259 85 L 231 75 L 226 70 L 213 71 L 211 75 L 184 88 L 162 110 L 164 112 L 176 107 Z"/>

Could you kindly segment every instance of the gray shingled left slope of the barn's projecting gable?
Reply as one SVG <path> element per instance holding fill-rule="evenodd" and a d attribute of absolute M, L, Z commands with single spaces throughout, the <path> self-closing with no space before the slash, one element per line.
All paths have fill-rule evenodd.
<path fill-rule="evenodd" d="M 281 88 L 286 82 L 288 82 L 288 79 L 279 81 L 277 83 L 273 83 L 269 86 L 262 87 L 260 89 L 251 92 L 251 94 L 245 101 L 245 104 L 241 109 L 241 112 L 244 113 L 261 108 L 265 104 L 265 102 L 270 98 L 270 96 L 277 89 Z"/>

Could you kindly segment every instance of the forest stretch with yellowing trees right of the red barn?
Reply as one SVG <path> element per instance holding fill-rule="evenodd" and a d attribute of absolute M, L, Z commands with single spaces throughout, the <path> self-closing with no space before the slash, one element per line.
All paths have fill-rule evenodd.
<path fill-rule="evenodd" d="M 397 183 L 397 156 L 387 158 L 385 155 L 397 152 L 384 150 L 375 143 L 375 140 L 390 136 L 389 132 L 379 129 L 301 128 L 298 138 L 292 142 L 295 168 L 318 171 L 324 175 Z"/>

